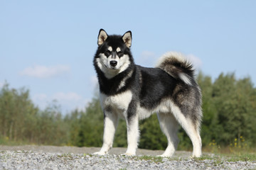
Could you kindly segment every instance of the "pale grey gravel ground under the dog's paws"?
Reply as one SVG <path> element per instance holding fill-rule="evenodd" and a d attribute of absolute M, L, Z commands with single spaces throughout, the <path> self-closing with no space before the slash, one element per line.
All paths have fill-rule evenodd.
<path fill-rule="evenodd" d="M 107 156 L 92 155 L 99 149 L 0 146 L 0 169 L 256 169 L 256 162 L 191 159 L 191 152 L 176 152 L 173 158 L 159 158 L 149 156 L 163 151 L 138 149 L 137 157 L 124 157 L 120 154 L 125 148 L 113 148 Z"/>

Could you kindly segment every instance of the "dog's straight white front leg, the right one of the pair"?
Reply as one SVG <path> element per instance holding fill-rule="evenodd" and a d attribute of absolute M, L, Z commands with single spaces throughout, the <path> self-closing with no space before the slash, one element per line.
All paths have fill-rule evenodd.
<path fill-rule="evenodd" d="M 127 152 L 125 155 L 134 156 L 139 141 L 139 118 L 137 115 L 127 118 Z"/>

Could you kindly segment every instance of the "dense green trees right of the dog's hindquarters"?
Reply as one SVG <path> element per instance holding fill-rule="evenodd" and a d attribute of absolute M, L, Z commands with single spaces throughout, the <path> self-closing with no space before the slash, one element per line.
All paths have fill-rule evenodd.
<path fill-rule="evenodd" d="M 214 105 L 210 106 L 213 122 L 203 122 L 203 130 L 211 128 L 208 135 L 212 140 L 225 146 L 240 136 L 255 141 L 255 88 L 250 78 L 237 80 L 235 74 L 220 74 L 213 83 L 212 98 L 203 98 L 204 103 L 208 101 Z M 212 115 L 208 109 L 209 106 L 203 107 L 205 118 Z"/>

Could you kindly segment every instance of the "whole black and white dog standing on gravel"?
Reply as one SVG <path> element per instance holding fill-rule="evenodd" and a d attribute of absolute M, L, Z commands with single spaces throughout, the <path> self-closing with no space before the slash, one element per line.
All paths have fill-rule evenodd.
<path fill-rule="evenodd" d="M 201 156 L 201 90 L 192 65 L 179 53 L 163 55 L 156 68 L 134 64 L 130 47 L 132 32 L 107 35 L 101 29 L 93 63 L 100 84 L 104 112 L 104 136 L 100 152 L 112 147 L 119 118 L 127 123 L 127 152 L 135 155 L 139 141 L 139 120 L 157 113 L 168 147 L 161 157 L 171 157 L 178 145 L 178 124 L 193 143 L 193 157 Z"/>

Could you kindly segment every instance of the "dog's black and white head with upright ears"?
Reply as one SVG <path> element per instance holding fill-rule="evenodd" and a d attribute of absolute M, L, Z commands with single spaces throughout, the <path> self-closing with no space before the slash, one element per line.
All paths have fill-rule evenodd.
<path fill-rule="evenodd" d="M 107 35 L 105 30 L 100 29 L 97 44 L 95 67 L 104 72 L 107 78 L 110 79 L 123 72 L 133 62 L 130 52 L 131 31 L 127 31 L 124 35 Z"/>

